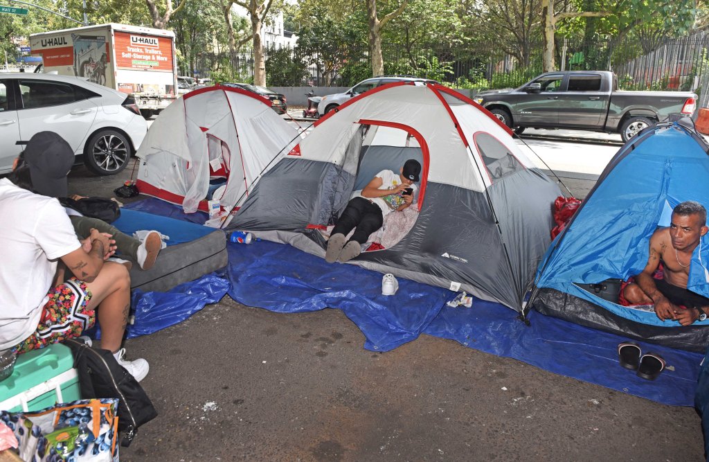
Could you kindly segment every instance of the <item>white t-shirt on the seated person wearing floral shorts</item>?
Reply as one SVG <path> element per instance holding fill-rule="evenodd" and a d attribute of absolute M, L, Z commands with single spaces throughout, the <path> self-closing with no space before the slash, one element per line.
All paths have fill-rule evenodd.
<path fill-rule="evenodd" d="M 81 247 L 57 199 L 0 180 L 0 350 L 37 329 L 57 260 Z"/>

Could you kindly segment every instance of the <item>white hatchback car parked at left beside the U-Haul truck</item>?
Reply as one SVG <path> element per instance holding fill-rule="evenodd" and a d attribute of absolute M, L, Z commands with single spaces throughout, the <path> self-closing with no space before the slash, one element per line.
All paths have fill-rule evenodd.
<path fill-rule="evenodd" d="M 0 175 L 12 170 L 40 131 L 54 131 L 97 175 L 114 175 L 128 164 L 147 132 L 132 95 L 79 77 L 0 74 Z"/>

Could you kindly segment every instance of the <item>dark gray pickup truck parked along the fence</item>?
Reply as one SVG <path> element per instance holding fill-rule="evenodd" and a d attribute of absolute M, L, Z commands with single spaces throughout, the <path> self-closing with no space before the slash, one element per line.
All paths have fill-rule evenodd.
<path fill-rule="evenodd" d="M 623 141 L 670 114 L 691 116 L 691 92 L 621 92 L 613 72 L 547 72 L 513 90 L 481 92 L 476 102 L 506 126 L 620 133 Z"/>

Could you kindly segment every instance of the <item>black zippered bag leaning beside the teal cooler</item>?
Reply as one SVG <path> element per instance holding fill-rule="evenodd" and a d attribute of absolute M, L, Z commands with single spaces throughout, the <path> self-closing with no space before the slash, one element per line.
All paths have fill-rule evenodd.
<path fill-rule="evenodd" d="M 118 398 L 118 431 L 123 432 L 121 446 L 130 446 L 138 427 L 157 417 L 145 390 L 118 364 L 111 351 L 90 348 L 74 339 L 67 339 L 65 343 L 74 353 L 82 399 Z"/>

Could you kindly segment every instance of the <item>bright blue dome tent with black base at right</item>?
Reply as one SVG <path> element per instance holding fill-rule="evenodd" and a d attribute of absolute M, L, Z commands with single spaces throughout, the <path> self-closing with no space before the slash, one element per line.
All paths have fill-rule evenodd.
<path fill-rule="evenodd" d="M 647 129 L 610 160 L 596 186 L 537 268 L 526 309 L 674 348 L 706 351 L 709 319 L 661 321 L 652 306 L 624 307 L 588 285 L 627 280 L 647 263 L 649 238 L 672 209 L 693 200 L 709 209 L 709 145 L 681 119 Z M 692 256 L 688 289 L 709 297 L 709 235 Z"/>

